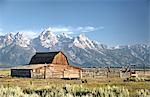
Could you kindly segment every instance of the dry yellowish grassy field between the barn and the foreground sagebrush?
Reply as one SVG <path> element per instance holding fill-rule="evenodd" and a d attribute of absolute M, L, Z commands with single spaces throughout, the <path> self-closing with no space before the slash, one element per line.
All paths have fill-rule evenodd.
<path fill-rule="evenodd" d="M 9 75 L 9 70 L 1 70 L 0 75 Z M 82 83 L 87 80 L 87 83 Z M 100 88 L 106 86 L 118 86 L 128 89 L 130 96 L 134 97 L 137 90 L 150 90 L 150 81 L 147 82 L 124 82 L 121 78 L 83 78 L 82 80 L 63 80 L 63 79 L 33 79 L 33 78 L 0 78 L 0 86 L 21 87 L 22 89 L 44 89 L 51 85 L 82 85 L 85 88 Z"/>

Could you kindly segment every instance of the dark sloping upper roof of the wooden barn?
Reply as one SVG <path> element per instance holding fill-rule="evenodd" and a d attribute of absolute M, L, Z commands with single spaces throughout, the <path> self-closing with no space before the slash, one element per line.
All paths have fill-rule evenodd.
<path fill-rule="evenodd" d="M 29 64 L 50 64 L 59 52 L 37 52 Z"/>

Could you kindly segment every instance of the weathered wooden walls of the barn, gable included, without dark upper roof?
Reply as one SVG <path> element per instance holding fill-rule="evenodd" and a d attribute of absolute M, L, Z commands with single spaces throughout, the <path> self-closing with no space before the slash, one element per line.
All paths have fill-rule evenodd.
<path fill-rule="evenodd" d="M 41 65 L 39 67 L 39 65 Z M 44 67 L 46 66 L 46 67 Z M 13 71 L 16 76 L 33 77 L 33 78 L 81 78 L 81 69 L 69 65 L 67 57 L 59 52 L 55 55 L 52 64 L 36 64 L 32 66 L 30 71 L 25 69 L 18 69 Z"/>

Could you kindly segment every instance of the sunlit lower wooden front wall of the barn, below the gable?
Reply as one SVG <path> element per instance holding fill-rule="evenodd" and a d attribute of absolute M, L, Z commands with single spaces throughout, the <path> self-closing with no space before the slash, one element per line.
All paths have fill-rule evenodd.
<path fill-rule="evenodd" d="M 81 78 L 81 70 L 69 65 L 49 64 L 46 67 L 46 78 Z M 44 78 L 44 67 L 33 70 L 33 78 Z"/>

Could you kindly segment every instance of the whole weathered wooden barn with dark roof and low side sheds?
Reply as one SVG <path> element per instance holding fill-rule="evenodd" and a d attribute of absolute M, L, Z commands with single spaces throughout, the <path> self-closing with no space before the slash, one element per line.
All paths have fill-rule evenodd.
<path fill-rule="evenodd" d="M 82 78 L 82 70 L 69 64 L 63 52 L 37 52 L 29 65 L 11 69 L 12 77 Z"/>

